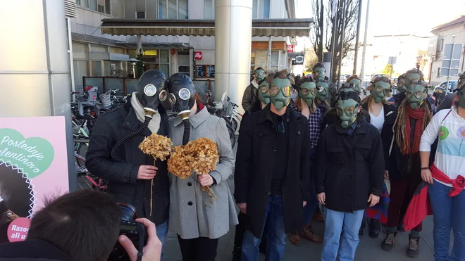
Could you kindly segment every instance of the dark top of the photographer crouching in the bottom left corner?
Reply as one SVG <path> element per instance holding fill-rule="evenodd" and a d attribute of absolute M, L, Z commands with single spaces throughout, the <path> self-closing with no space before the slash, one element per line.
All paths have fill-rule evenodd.
<path fill-rule="evenodd" d="M 76 246 L 77 248 L 79 246 Z M 56 246 L 40 239 L 30 239 L 0 245 L 0 261 L 71 261 L 71 257 Z"/>

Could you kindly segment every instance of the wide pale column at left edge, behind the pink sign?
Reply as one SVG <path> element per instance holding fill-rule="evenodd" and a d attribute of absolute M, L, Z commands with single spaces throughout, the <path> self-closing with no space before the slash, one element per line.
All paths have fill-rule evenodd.
<path fill-rule="evenodd" d="M 21 10 L 21 15 L 15 14 L 15 10 Z M 0 21 L 6 25 L 0 27 L 0 35 L 8 36 L 0 41 L 0 117 L 65 116 L 68 172 L 73 191 L 77 177 L 70 122 L 65 3 L 0 1 Z"/>

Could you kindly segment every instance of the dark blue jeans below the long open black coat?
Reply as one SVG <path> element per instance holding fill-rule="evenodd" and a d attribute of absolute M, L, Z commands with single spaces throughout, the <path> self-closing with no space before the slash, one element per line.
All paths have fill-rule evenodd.
<path fill-rule="evenodd" d="M 269 217 L 269 219 L 265 261 L 278 261 L 283 257 L 284 249 L 286 247 L 282 196 L 270 196 L 268 198 L 265 218 L 263 219 L 263 227 L 261 227 L 262 234 L 267 217 Z M 242 261 L 259 260 L 260 241 L 261 235 L 260 238 L 256 238 L 252 232 L 248 230 L 245 231 L 244 241 L 242 242 Z"/>

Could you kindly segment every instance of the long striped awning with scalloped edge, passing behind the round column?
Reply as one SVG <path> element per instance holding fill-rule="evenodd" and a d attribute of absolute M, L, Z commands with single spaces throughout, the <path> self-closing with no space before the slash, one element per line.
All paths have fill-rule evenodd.
<path fill-rule="evenodd" d="M 104 19 L 101 32 L 113 35 L 215 35 L 215 20 Z M 253 37 L 309 37 L 313 19 L 254 19 Z"/>

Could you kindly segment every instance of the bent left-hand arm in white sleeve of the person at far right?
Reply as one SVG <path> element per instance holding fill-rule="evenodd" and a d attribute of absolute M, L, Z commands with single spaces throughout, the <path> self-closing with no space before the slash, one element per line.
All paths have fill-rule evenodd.
<path fill-rule="evenodd" d="M 447 112 L 448 113 L 448 112 Z M 436 113 L 433 116 L 433 119 L 430 121 L 428 126 L 426 126 L 423 135 L 421 135 L 420 141 L 420 162 L 421 168 L 429 167 L 430 165 L 430 153 L 431 153 L 431 145 L 435 142 L 436 137 L 438 137 L 440 126 L 447 113 Z M 428 182 L 429 184 L 433 184 L 433 178 L 431 177 L 431 172 L 429 168 L 427 170 L 421 170 L 421 178 Z"/>

